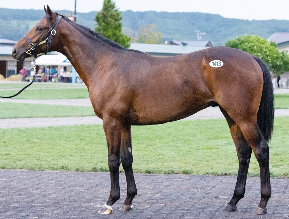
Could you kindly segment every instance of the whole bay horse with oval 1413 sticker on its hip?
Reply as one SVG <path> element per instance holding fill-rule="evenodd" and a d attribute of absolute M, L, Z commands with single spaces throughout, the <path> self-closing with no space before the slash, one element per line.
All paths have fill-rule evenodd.
<path fill-rule="evenodd" d="M 156 58 L 123 48 L 52 12 L 48 5 L 44 10 L 45 17 L 15 44 L 12 55 L 23 61 L 30 55 L 58 51 L 87 86 L 108 145 L 111 190 L 100 214 L 109 214 L 120 198 L 120 164 L 127 181 L 127 197 L 120 210 L 133 208 L 137 189 L 131 126 L 176 121 L 208 106 L 219 106 L 225 116 L 239 160 L 236 188 L 224 210 L 236 211 L 244 197 L 253 150 L 261 179 L 255 214 L 266 214 L 271 197 L 267 141 L 273 131 L 274 96 L 270 72 L 260 58 L 223 46 Z"/>

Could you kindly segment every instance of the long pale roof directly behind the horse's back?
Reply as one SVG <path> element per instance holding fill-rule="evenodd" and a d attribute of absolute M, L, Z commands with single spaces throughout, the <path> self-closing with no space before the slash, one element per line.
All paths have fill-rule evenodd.
<path fill-rule="evenodd" d="M 198 50 L 206 49 L 208 47 L 131 43 L 129 48 L 135 49 L 135 50 L 140 50 L 140 51 L 148 53 L 150 55 L 173 56 L 173 55 L 192 53 L 192 52 L 195 52 Z"/>

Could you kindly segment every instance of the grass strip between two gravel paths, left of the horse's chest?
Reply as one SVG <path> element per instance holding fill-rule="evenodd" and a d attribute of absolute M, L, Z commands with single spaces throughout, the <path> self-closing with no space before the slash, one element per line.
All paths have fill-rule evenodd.
<path fill-rule="evenodd" d="M 89 106 L 0 103 L 0 119 L 95 116 Z"/>

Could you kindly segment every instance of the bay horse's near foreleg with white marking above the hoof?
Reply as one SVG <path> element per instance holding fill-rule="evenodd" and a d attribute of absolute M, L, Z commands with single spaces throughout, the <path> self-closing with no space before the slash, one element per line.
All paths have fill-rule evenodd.
<path fill-rule="evenodd" d="M 120 148 L 121 148 L 121 134 L 122 124 L 113 119 L 103 120 L 103 129 L 108 145 L 108 169 L 110 171 L 110 196 L 108 201 L 103 205 L 99 214 L 110 214 L 112 212 L 112 205 L 120 198 L 121 193 L 119 189 L 119 166 L 121 164 Z"/>

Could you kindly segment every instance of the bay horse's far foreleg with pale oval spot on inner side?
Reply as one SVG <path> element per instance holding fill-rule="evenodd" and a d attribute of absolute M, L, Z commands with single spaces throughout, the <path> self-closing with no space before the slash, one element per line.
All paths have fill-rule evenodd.
<path fill-rule="evenodd" d="M 131 210 L 134 207 L 131 202 L 137 194 L 134 173 L 132 170 L 133 158 L 131 150 L 131 127 L 125 126 L 121 136 L 121 164 L 125 171 L 125 178 L 127 181 L 127 197 L 120 209 L 123 211 Z"/>

